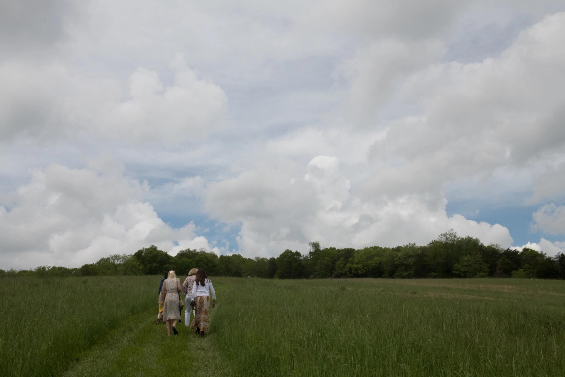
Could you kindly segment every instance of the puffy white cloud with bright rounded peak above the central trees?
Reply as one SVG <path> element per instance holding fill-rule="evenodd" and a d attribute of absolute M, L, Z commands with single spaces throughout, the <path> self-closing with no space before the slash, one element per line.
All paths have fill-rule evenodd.
<path fill-rule="evenodd" d="M 512 245 L 506 227 L 447 216 L 441 195 L 362 200 L 351 194 L 335 157 L 315 157 L 306 174 L 300 172 L 294 166 L 246 170 L 210 184 L 205 207 L 215 218 L 241 224 L 238 248 L 247 256 L 278 255 L 286 248 L 305 252 L 312 240 L 355 248 L 426 244 L 451 228 L 485 244 Z"/>

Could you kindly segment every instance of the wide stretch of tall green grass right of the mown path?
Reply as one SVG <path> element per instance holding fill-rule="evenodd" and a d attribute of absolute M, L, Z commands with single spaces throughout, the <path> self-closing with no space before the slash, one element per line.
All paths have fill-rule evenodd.
<path fill-rule="evenodd" d="M 562 281 L 232 284 L 211 333 L 236 375 L 565 375 Z"/>

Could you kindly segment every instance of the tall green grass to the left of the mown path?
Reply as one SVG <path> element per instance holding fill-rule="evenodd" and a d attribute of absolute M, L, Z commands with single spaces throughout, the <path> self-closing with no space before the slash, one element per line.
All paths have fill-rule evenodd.
<path fill-rule="evenodd" d="M 125 320 L 156 318 L 159 279 L 0 279 L 0 375 L 60 375 Z"/>

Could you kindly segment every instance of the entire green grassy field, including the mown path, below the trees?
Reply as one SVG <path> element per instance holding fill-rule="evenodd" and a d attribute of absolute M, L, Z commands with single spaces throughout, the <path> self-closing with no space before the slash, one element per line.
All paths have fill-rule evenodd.
<path fill-rule="evenodd" d="M 198 339 L 159 280 L 1 279 L 0 375 L 565 375 L 563 281 L 214 278 Z"/>

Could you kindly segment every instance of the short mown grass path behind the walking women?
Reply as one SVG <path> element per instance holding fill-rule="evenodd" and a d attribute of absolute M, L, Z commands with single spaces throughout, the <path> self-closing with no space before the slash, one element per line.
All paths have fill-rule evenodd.
<path fill-rule="evenodd" d="M 225 292 L 221 288 L 220 291 Z M 218 309 L 212 311 L 212 326 Z M 85 352 L 64 376 L 232 375 L 229 363 L 214 348 L 213 331 L 202 339 L 179 323 L 179 335 L 167 336 L 166 326 L 155 325 L 155 318 L 155 308 L 128 318 L 124 326 L 111 331 L 106 340 Z"/>

